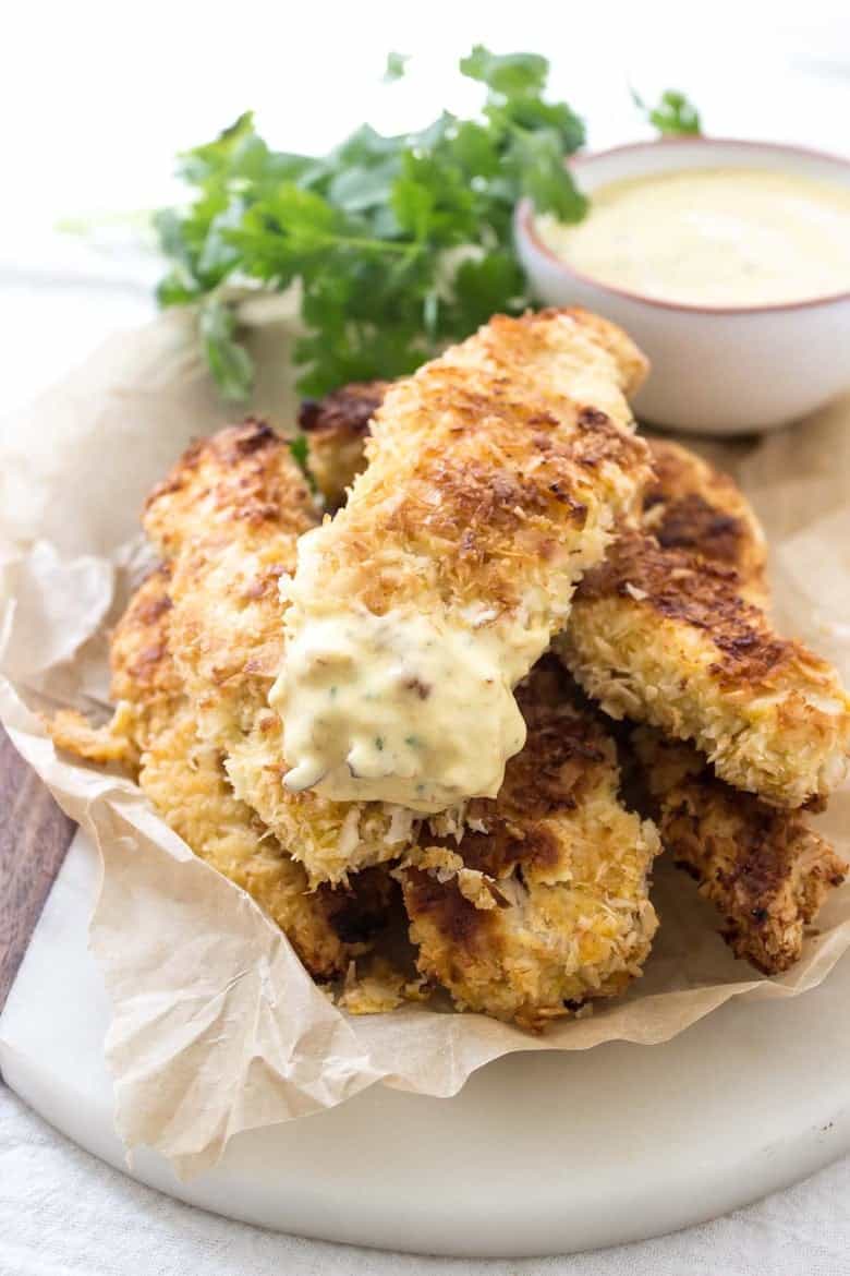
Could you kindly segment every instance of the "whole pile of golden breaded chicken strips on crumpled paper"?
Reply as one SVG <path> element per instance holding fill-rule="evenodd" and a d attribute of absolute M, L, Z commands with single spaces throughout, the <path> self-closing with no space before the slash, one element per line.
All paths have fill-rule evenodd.
<path fill-rule="evenodd" d="M 584 311 L 496 316 L 302 408 L 334 519 L 252 420 L 152 493 L 112 722 L 54 738 L 136 776 L 345 1004 L 403 995 L 352 966 L 401 901 L 426 986 L 537 1031 L 640 976 L 661 843 L 767 974 L 842 879 L 800 808 L 842 773 L 850 699 L 774 634 L 734 482 L 633 436 L 644 371 Z M 642 723 L 619 757 L 660 838 L 589 695 Z"/>

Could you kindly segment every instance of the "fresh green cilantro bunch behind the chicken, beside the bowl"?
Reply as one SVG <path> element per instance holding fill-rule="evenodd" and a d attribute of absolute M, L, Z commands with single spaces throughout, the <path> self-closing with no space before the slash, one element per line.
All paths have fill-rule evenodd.
<path fill-rule="evenodd" d="M 561 221 L 584 217 L 565 157 L 582 145 L 585 128 L 566 102 L 544 98 L 545 57 L 479 45 L 460 70 L 486 85 L 477 119 L 443 112 L 399 137 L 363 125 L 315 157 L 271 151 L 246 114 L 181 157 L 194 197 L 186 209 L 155 214 L 171 262 L 158 299 L 199 306 L 227 398 L 246 397 L 252 375 L 231 285 L 299 282 L 306 334 L 296 359 L 308 394 L 410 373 L 493 311 L 528 305 L 514 205 L 528 195 Z M 391 55 L 387 78 L 403 73 L 404 59 Z"/>

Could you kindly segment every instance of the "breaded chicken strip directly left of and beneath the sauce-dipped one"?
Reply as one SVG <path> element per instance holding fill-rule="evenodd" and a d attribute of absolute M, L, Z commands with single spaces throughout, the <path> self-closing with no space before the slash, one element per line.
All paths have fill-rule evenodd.
<path fill-rule="evenodd" d="M 256 421 L 190 448 L 144 518 L 173 565 L 172 649 L 199 732 L 224 757 L 237 798 L 303 863 L 311 884 L 390 859 L 414 833 L 408 812 L 334 803 L 283 782 L 282 723 L 268 706 L 283 660 L 278 584 L 315 521 L 287 441 Z"/>

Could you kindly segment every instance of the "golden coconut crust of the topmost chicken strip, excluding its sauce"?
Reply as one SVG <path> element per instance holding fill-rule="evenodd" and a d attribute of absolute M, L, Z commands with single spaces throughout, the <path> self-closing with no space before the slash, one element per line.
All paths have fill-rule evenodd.
<path fill-rule="evenodd" d="M 389 388 L 371 422 L 368 466 L 348 503 L 299 547 L 285 619 L 288 662 L 275 701 L 293 767 L 302 762 L 302 741 L 316 738 L 317 712 L 303 694 L 308 661 L 302 669 L 294 653 L 308 649 L 329 619 L 427 616 L 437 643 L 445 632 L 475 628 L 482 641 L 501 643 L 507 684 L 528 672 L 566 623 L 575 584 L 604 555 L 614 519 L 632 508 L 649 476 L 626 401 L 644 371 L 619 329 L 584 311 L 544 310 L 497 315 Z M 517 655 L 517 633 L 540 641 Z M 405 656 L 415 666 L 409 644 Z M 353 661 L 340 674 L 340 702 L 345 681 L 357 678 Z M 357 740 L 353 727 L 344 738 L 344 713 L 334 726 L 340 758 L 347 743 L 353 757 Z M 479 729 L 487 739 L 488 723 Z M 466 748 L 480 748 L 480 738 Z M 324 782 L 331 796 L 342 791 L 333 775 L 313 780 L 319 771 L 319 762 L 305 762 L 305 783 Z M 363 796 L 396 796 L 368 775 L 356 778 Z M 443 791 L 437 777 L 423 778 Z M 399 783 L 398 800 L 403 795 Z"/>

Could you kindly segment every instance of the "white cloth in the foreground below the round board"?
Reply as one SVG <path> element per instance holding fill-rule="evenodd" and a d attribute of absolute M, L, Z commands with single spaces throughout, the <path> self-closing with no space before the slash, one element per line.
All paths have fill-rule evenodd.
<path fill-rule="evenodd" d="M 850 1159 L 725 1219 L 594 1254 L 446 1259 L 282 1236 L 180 1205 L 0 1087 L 0 1276 L 847 1276 Z"/>

